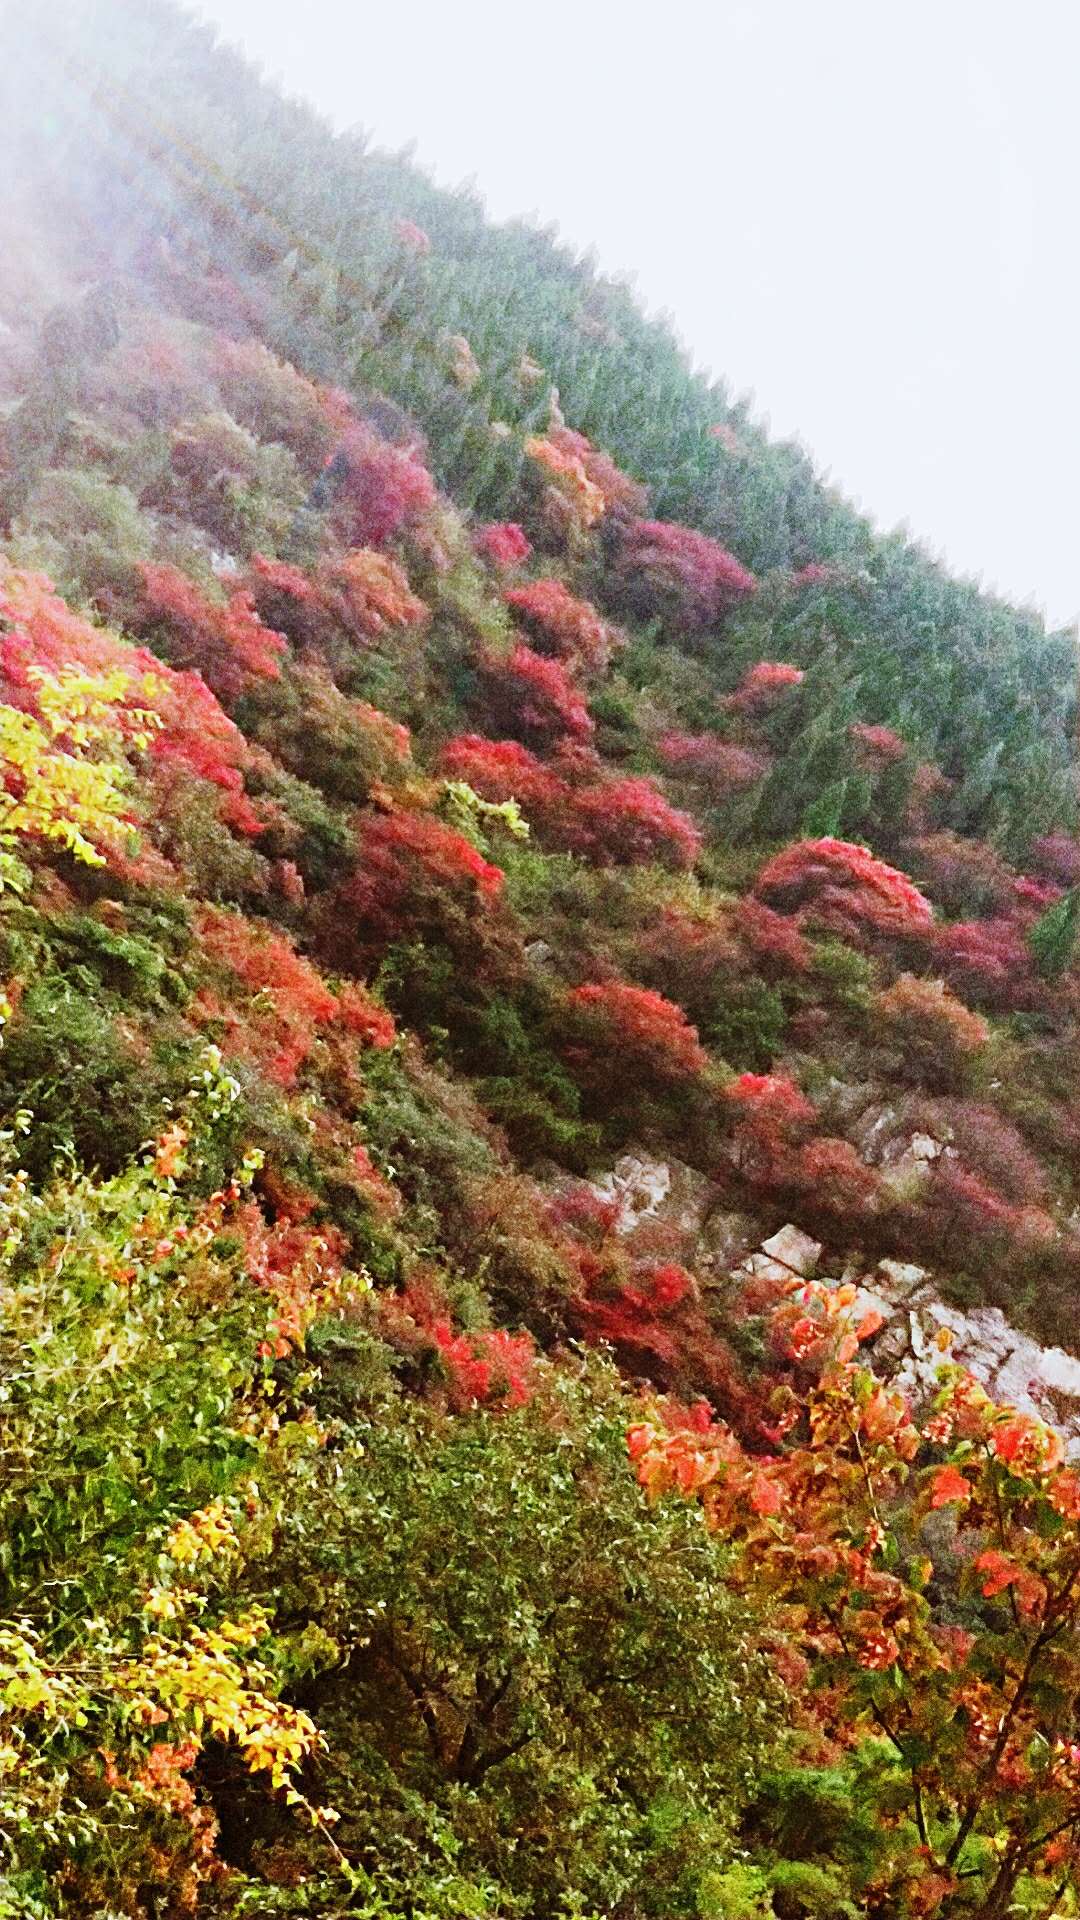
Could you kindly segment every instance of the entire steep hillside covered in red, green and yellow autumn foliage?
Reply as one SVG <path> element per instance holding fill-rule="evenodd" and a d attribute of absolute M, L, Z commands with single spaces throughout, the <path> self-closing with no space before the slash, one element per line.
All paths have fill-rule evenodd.
<path fill-rule="evenodd" d="M 1074 1914 L 1076 636 L 8 48 L 0 1916 Z"/>

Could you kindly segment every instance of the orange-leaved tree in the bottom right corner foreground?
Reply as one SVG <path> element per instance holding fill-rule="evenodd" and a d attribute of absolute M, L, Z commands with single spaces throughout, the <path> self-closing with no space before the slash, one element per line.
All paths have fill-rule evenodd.
<path fill-rule="evenodd" d="M 774 1396 L 782 1450 L 657 1407 L 630 1455 L 653 1498 L 700 1498 L 778 1605 L 798 1718 L 878 1822 L 861 1910 L 1053 1912 L 1080 1884 L 1080 1476 L 959 1367 L 915 1419 L 859 1365 L 878 1325 L 851 1286 L 792 1283 L 780 1336 L 821 1377 L 805 1409 Z"/>

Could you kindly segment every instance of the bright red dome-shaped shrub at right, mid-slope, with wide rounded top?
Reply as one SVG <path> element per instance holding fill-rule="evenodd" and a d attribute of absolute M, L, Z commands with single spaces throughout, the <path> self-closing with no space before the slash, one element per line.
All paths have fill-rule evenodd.
<path fill-rule="evenodd" d="M 796 841 L 769 860 L 755 893 L 842 935 L 926 935 L 934 910 L 905 874 L 849 841 Z"/>

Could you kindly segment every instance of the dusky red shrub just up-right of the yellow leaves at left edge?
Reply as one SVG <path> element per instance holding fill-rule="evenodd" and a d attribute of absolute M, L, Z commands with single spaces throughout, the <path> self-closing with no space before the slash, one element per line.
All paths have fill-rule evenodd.
<path fill-rule="evenodd" d="M 240 589 L 221 607 L 177 566 L 142 566 L 140 574 L 140 626 L 177 666 L 202 674 L 219 699 L 233 701 L 252 682 L 279 678 L 288 643 L 263 626 L 250 593 Z"/>

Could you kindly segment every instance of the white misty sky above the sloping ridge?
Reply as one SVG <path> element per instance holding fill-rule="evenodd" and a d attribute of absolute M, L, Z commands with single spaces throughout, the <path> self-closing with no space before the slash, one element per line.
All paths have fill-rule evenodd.
<path fill-rule="evenodd" d="M 200 0 L 630 271 L 882 526 L 1080 611 L 1078 0 Z"/>

